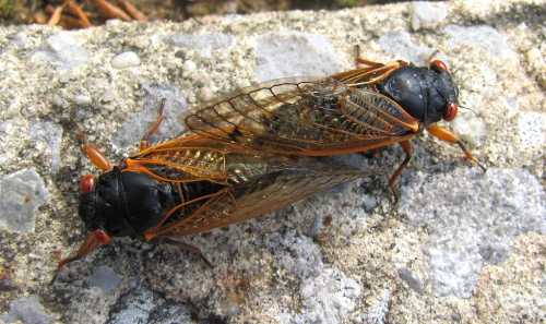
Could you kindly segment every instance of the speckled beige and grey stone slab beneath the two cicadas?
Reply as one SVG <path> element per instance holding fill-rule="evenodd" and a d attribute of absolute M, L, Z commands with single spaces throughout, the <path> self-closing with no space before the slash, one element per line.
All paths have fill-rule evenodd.
<path fill-rule="evenodd" d="M 539 323 L 545 8 L 452 1 L 79 32 L 0 27 L 0 224 L 24 219 L 0 229 L 0 321 Z M 183 131 L 180 112 L 222 93 L 352 69 L 356 44 L 380 61 L 423 63 L 438 50 L 472 109 L 452 127 L 489 171 L 425 134 L 414 141 L 397 205 L 378 175 L 186 238 L 212 268 L 174 247 L 121 239 L 49 285 L 59 255 L 83 239 L 79 176 L 96 172 L 80 155 L 76 124 L 118 160 L 135 148 L 161 98 L 168 113 L 158 137 L 170 136 Z M 372 161 L 344 157 L 385 175 L 401 158 L 397 147 Z M 27 173 L 17 188 L 32 206 L 4 185 Z"/>

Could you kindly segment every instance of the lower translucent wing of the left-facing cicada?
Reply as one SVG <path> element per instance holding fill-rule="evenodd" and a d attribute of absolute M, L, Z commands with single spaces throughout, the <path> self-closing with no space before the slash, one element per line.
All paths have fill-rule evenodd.
<path fill-rule="evenodd" d="M 283 208 L 319 191 L 375 173 L 346 166 L 305 160 L 293 169 L 269 172 L 215 195 L 191 215 L 156 230 L 154 236 L 207 231 Z"/>

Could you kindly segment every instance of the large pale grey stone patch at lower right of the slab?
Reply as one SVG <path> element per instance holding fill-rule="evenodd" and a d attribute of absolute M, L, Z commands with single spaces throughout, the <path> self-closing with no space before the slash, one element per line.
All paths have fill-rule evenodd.
<path fill-rule="evenodd" d="M 436 293 L 468 298 L 484 264 L 503 261 L 515 236 L 546 232 L 545 201 L 541 182 L 525 170 L 459 168 L 414 175 L 400 209 L 430 231 L 424 249 Z"/>

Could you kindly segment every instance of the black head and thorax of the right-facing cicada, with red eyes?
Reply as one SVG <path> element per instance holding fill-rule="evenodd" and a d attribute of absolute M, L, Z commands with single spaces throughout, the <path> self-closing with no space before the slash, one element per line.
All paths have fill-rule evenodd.
<path fill-rule="evenodd" d="M 400 68 L 378 88 L 425 125 L 442 119 L 451 121 L 458 112 L 459 89 L 440 60 L 431 61 L 426 68 Z"/>

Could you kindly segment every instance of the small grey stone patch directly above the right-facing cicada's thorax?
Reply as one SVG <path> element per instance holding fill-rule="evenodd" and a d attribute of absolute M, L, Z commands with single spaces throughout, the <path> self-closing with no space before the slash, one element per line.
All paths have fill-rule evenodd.
<path fill-rule="evenodd" d="M 424 64 L 434 49 L 415 44 L 407 32 L 389 32 L 379 37 L 379 46 L 393 59 L 404 59 Z"/>

